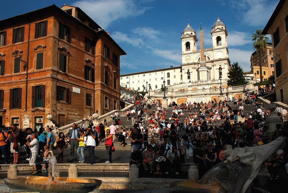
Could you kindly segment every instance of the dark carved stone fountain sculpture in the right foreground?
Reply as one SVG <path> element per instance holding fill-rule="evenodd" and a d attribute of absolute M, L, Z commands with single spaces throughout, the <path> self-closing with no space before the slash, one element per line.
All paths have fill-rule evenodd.
<path fill-rule="evenodd" d="M 223 158 L 199 181 L 197 179 L 172 182 L 168 188 L 150 190 L 101 190 L 101 193 L 245 193 L 250 192 L 251 183 L 263 168 L 263 163 L 276 152 L 286 137 L 278 137 L 266 145 L 235 148 L 226 145 Z"/>

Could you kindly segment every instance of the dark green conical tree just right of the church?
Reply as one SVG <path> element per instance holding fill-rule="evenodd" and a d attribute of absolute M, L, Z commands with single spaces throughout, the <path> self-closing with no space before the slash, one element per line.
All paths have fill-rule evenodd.
<path fill-rule="evenodd" d="M 247 81 L 243 77 L 243 69 L 238 62 L 233 62 L 231 70 L 228 72 L 228 86 L 240 86 L 246 84 Z"/>

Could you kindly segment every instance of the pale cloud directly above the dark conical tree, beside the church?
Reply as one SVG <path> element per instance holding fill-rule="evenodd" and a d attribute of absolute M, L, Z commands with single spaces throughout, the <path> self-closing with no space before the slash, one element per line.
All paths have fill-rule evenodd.
<path fill-rule="evenodd" d="M 244 72 L 250 71 L 250 58 L 253 51 L 245 51 L 240 49 L 229 49 L 229 59 L 231 64 L 233 62 L 238 62 L 238 64 L 243 68 Z"/>

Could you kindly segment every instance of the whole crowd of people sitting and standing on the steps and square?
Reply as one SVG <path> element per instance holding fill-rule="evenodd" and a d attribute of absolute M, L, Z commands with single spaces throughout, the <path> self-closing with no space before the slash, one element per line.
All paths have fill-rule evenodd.
<path fill-rule="evenodd" d="M 271 112 L 269 110 L 263 112 L 261 109 L 263 104 L 256 99 L 253 95 L 250 97 L 245 94 L 243 99 L 239 96 L 233 98 L 232 101 L 225 98 L 223 102 L 212 100 L 207 103 L 185 102 L 180 105 L 173 102 L 171 103 L 172 113 L 168 115 L 162 109 L 160 100 L 146 101 L 139 95 L 138 98 L 133 99 L 134 106 L 128 109 L 126 114 L 127 120 L 132 121 L 133 127 L 131 128 L 115 127 L 120 121 L 117 111 L 111 114 L 115 122 L 109 126 L 105 119 L 104 123 L 99 123 L 98 126 L 89 124 L 87 131 L 84 131 L 84 120 L 82 120 L 80 125 L 73 124 L 68 133 L 60 132 L 56 139 L 53 139 L 53 127 L 33 131 L 31 128 L 18 129 L 12 124 L 11 127 L 2 126 L 0 150 L 5 163 L 8 163 L 7 154 L 11 153 L 13 161 L 10 164 L 18 164 L 19 153 L 25 152 L 27 160 L 33 166 L 31 173 L 35 174 L 37 173 L 36 159 L 43 153 L 44 168 L 47 168 L 48 161 L 53 155 L 53 146 L 58 150 L 58 155 L 55 156 L 60 163 L 63 163 L 64 149 L 70 144 L 71 152 L 68 162 L 77 159 L 79 163 L 94 164 L 94 148 L 99 142 L 104 142 L 107 152 L 105 163 L 111 163 L 113 143 L 118 137 L 122 147 L 127 144 L 131 145 L 130 165 L 136 164 L 140 169 L 153 174 L 168 174 L 173 167 L 175 173 L 179 174 L 180 164 L 190 163 L 190 157 L 193 157 L 193 162 L 199 164 L 199 177 L 201 177 L 213 165 L 223 160 L 222 152 L 226 149 L 226 145 L 239 148 L 257 146 L 267 144 L 280 136 L 285 136 L 287 143 L 286 108 L 280 106 L 276 108 L 275 113 L 282 117 L 283 124 L 276 125 L 276 131 L 270 132 L 274 129 L 268 128 L 265 119 L 270 116 Z M 236 102 L 239 108 L 232 110 L 228 102 Z M 257 108 L 254 112 L 244 115 L 243 104 L 255 105 Z M 152 113 L 146 109 L 150 106 Z M 190 110 L 186 117 L 183 117 L 184 110 Z M 238 121 L 239 115 L 246 118 L 244 122 Z M 90 120 L 89 117 L 90 115 L 87 121 Z M 214 124 L 221 119 L 224 123 L 215 127 Z M 151 137 L 150 140 L 149 137 Z M 159 140 L 155 140 L 154 137 L 159 137 Z M 180 146 L 177 143 L 180 143 Z M 193 144 L 196 145 L 195 149 Z M 205 151 L 202 150 L 203 147 Z M 89 153 L 88 161 L 84 156 L 85 148 Z M 285 165 L 286 149 L 287 145 L 265 165 L 274 178 L 278 176 L 278 169 Z M 288 172 L 287 164 L 286 168 Z"/>

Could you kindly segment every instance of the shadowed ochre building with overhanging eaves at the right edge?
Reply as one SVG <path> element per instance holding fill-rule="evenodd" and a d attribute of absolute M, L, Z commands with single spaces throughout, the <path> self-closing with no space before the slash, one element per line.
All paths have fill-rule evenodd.
<path fill-rule="evenodd" d="M 288 104 L 288 0 L 279 1 L 262 34 L 272 35 L 277 101 Z"/>

